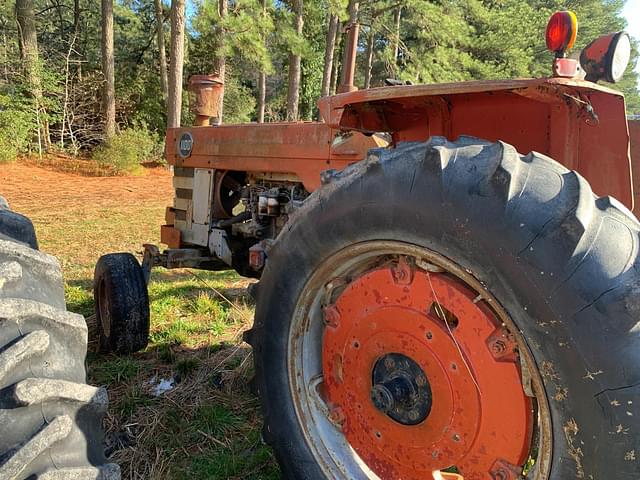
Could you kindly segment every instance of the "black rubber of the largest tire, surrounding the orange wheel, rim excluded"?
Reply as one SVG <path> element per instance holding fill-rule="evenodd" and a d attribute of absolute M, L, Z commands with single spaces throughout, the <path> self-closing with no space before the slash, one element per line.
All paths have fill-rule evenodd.
<path fill-rule="evenodd" d="M 597 198 L 578 173 L 501 142 L 401 144 L 336 174 L 269 251 L 246 335 L 264 437 L 284 478 L 326 478 L 289 381 L 299 295 L 325 259 L 371 240 L 439 252 L 509 313 L 550 406 L 549 478 L 640 478 L 639 230 L 624 206 Z"/>

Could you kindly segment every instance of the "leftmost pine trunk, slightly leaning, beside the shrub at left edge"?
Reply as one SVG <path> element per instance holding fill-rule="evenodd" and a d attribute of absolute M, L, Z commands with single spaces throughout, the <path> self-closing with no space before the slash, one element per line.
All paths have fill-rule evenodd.
<path fill-rule="evenodd" d="M 49 135 L 47 114 L 43 105 L 36 17 L 33 12 L 32 0 L 16 0 L 16 20 L 18 21 L 20 57 L 27 81 L 29 82 L 31 95 L 35 100 L 39 140 L 41 144 L 44 144 L 44 147 L 48 149 L 51 146 L 51 138 Z"/>

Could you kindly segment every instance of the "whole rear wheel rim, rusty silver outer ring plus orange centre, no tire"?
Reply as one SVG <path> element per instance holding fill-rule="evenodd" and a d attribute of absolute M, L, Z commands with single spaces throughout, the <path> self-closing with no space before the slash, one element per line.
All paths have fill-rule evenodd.
<path fill-rule="evenodd" d="M 434 252 L 389 241 L 338 252 L 299 297 L 288 358 L 327 478 L 447 478 L 438 472 L 456 467 L 466 480 L 508 480 L 533 450 L 527 478 L 548 478 L 551 422 L 524 339 Z"/>

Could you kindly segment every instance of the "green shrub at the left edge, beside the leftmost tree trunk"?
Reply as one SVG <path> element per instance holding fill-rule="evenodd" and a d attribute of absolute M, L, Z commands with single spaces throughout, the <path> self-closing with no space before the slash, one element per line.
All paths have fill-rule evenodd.
<path fill-rule="evenodd" d="M 28 151 L 34 122 L 28 105 L 21 104 L 18 96 L 0 93 L 0 163 L 11 162 Z"/>

